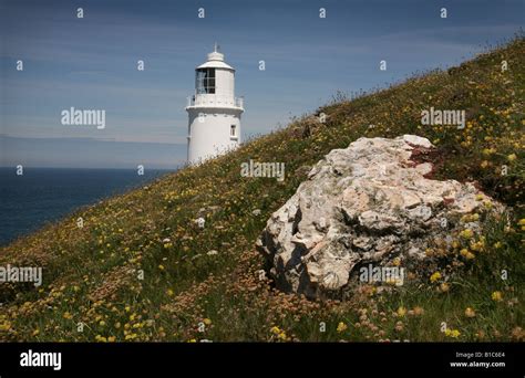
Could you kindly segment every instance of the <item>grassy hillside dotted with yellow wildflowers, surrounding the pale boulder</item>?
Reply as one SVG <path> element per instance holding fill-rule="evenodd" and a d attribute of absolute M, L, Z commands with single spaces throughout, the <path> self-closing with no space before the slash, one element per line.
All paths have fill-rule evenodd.
<path fill-rule="evenodd" d="M 319 109 L 325 124 L 294 120 L 227 156 L 79 210 L 0 250 L 2 266 L 43 266 L 38 288 L 0 286 L 0 339 L 523 340 L 524 102 L 521 36 L 459 67 L 334 99 Z M 466 127 L 422 126 L 421 111 L 431 106 L 466 109 Z M 399 290 L 363 286 L 344 303 L 275 291 L 254 250 L 271 212 L 331 149 L 402 134 L 436 145 L 428 157 L 436 178 L 477 181 L 508 211 L 473 214 L 483 234 L 454 235 L 453 250 L 436 241 L 428 251 L 434 274 L 412 272 Z M 240 177 L 249 159 L 285 162 L 286 179 Z"/>

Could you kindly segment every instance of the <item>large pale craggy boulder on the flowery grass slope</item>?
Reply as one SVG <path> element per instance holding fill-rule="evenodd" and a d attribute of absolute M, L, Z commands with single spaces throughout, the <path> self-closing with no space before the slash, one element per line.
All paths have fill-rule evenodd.
<path fill-rule="evenodd" d="M 450 240 L 454 219 L 491 199 L 471 183 L 428 178 L 432 164 L 411 158 L 432 148 L 414 135 L 360 138 L 319 161 L 257 242 L 277 286 L 340 296 L 358 266 L 422 260 L 431 241 Z"/>

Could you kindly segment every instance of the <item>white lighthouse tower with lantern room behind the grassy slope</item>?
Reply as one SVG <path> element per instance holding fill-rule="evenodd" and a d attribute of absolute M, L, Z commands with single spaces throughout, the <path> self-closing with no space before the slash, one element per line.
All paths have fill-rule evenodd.
<path fill-rule="evenodd" d="M 243 98 L 235 97 L 235 70 L 217 44 L 195 69 L 195 94 L 188 97 L 188 162 L 199 164 L 240 143 Z"/>

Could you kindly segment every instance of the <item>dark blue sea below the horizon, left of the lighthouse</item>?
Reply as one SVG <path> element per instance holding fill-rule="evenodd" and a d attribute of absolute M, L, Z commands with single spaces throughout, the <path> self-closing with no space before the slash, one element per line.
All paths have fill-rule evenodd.
<path fill-rule="evenodd" d="M 169 170 L 0 167 L 0 245 L 80 207 L 146 185 Z"/>

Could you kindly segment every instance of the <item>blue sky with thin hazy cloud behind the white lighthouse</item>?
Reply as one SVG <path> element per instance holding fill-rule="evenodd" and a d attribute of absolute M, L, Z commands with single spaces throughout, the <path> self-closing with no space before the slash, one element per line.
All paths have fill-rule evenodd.
<path fill-rule="evenodd" d="M 382 87 L 470 59 L 523 28 L 524 4 L 2 0 L 0 165 L 174 168 L 186 157 L 194 69 L 215 41 L 237 70 L 246 138 L 315 111 L 337 91 Z M 106 128 L 62 125 L 71 106 L 105 109 Z"/>

